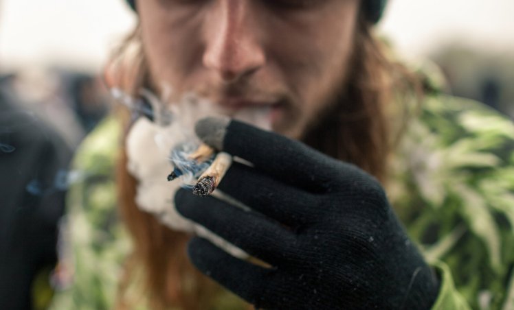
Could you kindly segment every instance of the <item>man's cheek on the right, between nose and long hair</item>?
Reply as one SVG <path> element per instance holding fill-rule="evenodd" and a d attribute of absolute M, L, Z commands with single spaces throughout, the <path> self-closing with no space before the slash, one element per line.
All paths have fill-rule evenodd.
<path fill-rule="evenodd" d="M 273 57 L 280 63 L 290 88 L 312 97 L 344 75 L 353 45 L 357 16 L 355 3 L 339 3 L 311 19 L 276 27 Z M 332 9 L 332 10 L 330 10 Z M 284 29 L 289 28 L 289 29 Z"/>

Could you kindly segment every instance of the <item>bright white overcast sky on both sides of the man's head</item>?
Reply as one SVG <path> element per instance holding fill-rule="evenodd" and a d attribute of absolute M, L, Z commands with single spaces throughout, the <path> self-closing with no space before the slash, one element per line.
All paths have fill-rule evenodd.
<path fill-rule="evenodd" d="M 122 0 L 0 0 L 0 67 L 98 70 L 135 23 Z M 390 0 L 385 32 L 406 56 L 451 40 L 514 51 L 514 0 Z"/>

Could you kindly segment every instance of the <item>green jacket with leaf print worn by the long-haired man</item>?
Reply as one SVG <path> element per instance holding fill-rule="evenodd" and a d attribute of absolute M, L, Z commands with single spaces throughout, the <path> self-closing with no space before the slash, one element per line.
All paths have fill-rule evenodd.
<path fill-rule="evenodd" d="M 54 309 L 111 309 L 131 243 L 118 219 L 113 167 L 120 123 L 105 120 L 80 148 L 69 195 L 65 265 L 74 281 Z M 392 158 L 387 190 L 441 287 L 434 309 L 514 309 L 514 125 L 466 99 L 432 93 Z M 66 247 L 65 247 L 66 248 Z M 147 309 L 137 280 L 124 292 Z M 226 293 L 213 309 L 242 309 Z"/>

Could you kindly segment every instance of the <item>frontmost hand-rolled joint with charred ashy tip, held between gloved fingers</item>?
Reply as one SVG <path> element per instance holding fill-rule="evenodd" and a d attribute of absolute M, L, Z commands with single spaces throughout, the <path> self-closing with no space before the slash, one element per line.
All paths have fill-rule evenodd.
<path fill-rule="evenodd" d="M 198 179 L 197 184 L 193 187 L 194 195 L 206 196 L 210 195 L 219 183 L 225 173 L 232 164 L 232 156 L 225 152 L 219 152 L 214 158 L 212 165 L 208 167 Z"/>

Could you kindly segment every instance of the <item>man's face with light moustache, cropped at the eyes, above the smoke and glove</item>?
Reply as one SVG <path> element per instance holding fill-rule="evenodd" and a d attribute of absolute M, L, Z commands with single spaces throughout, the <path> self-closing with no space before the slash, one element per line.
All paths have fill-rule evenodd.
<path fill-rule="evenodd" d="M 342 87 L 359 0 L 137 1 L 156 84 L 298 139 Z"/>

